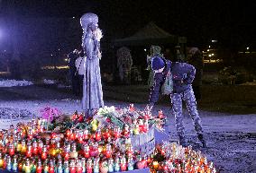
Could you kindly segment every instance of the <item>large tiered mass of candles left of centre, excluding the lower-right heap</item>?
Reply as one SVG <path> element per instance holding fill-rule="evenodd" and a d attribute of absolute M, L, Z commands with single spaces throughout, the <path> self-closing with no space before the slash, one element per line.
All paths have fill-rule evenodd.
<path fill-rule="evenodd" d="M 0 169 L 26 173 L 114 172 L 147 167 L 146 157 L 133 151 L 131 138 L 118 127 L 89 132 L 69 129 L 45 134 L 42 119 L 0 131 Z M 123 138 L 125 150 L 114 142 Z"/>

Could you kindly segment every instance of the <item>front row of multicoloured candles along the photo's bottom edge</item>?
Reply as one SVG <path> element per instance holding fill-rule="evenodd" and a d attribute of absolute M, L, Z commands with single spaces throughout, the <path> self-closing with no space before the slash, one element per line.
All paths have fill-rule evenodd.
<path fill-rule="evenodd" d="M 139 157 L 138 157 L 139 158 Z M 137 160 L 137 159 L 136 159 Z M 0 153 L 0 170 L 6 169 L 14 172 L 25 173 L 107 173 L 120 172 L 147 167 L 147 160 L 134 161 L 133 157 L 116 155 L 114 158 L 102 159 L 99 156 L 94 158 L 76 158 L 63 160 L 61 155 L 57 158 L 41 160 L 40 157 L 23 158 L 20 155 L 5 155 Z"/>

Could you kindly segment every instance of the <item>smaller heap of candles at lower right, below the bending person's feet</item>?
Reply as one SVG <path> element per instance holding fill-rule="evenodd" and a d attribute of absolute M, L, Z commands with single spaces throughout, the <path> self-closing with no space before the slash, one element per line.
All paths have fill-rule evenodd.
<path fill-rule="evenodd" d="M 148 159 L 152 173 L 156 172 L 206 172 L 216 173 L 212 161 L 207 161 L 201 151 L 192 150 L 191 146 L 182 147 L 178 143 L 165 143 L 156 147 L 152 156 L 158 155 L 164 160 Z"/>

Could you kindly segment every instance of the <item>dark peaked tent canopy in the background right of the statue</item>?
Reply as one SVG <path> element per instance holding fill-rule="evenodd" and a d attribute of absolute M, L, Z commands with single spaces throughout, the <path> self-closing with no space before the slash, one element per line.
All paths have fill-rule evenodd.
<path fill-rule="evenodd" d="M 178 44 L 186 43 L 185 37 L 178 37 L 160 29 L 154 22 L 148 23 L 138 30 L 133 36 L 124 39 L 114 39 L 114 46 L 150 46 L 153 44 Z"/>

